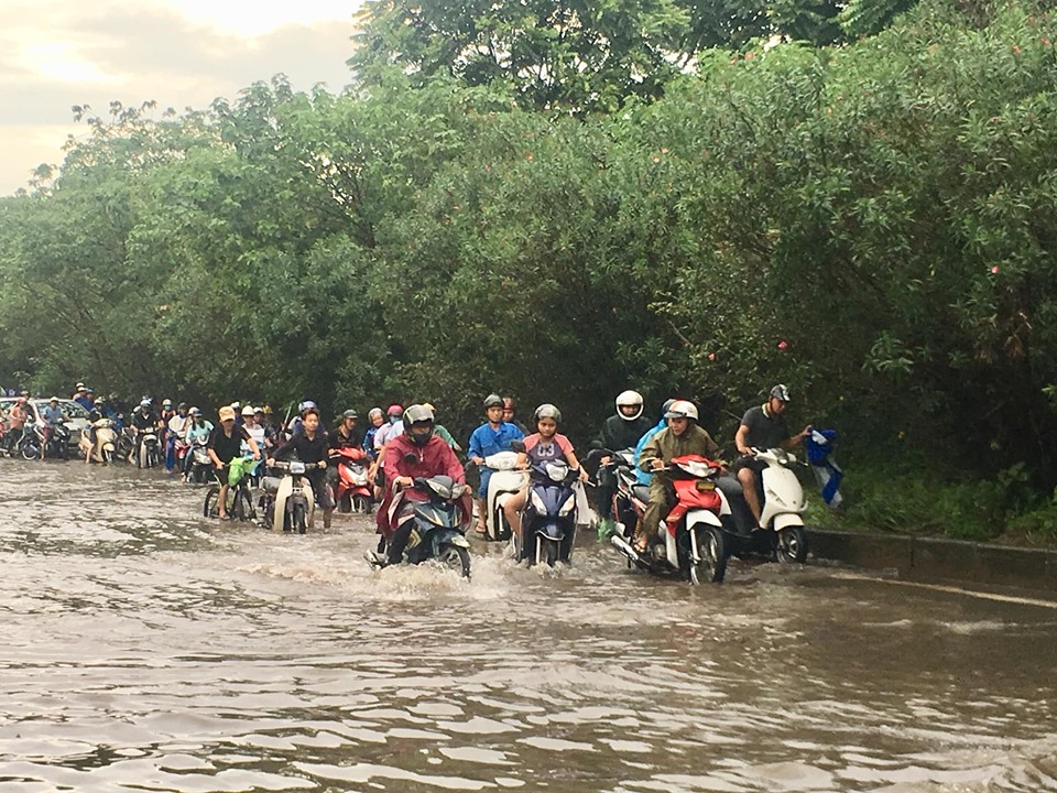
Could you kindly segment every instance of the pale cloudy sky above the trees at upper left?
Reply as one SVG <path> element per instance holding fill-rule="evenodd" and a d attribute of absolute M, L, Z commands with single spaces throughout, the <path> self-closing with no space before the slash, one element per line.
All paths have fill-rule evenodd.
<path fill-rule="evenodd" d="M 348 82 L 359 0 L 0 0 L 0 195 L 62 162 L 70 107 L 203 108 L 282 72 Z"/>

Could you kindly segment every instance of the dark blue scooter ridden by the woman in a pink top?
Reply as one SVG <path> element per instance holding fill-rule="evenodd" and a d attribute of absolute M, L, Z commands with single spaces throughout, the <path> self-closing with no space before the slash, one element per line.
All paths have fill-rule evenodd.
<path fill-rule="evenodd" d="M 528 565 L 569 564 L 576 541 L 578 468 L 563 460 L 538 463 L 528 469 L 528 498 L 521 519 L 523 547 L 511 537 L 514 558 Z"/>

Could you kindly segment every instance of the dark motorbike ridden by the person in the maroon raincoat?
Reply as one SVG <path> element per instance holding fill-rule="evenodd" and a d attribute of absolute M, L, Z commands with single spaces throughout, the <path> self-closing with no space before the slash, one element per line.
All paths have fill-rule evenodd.
<path fill-rule="evenodd" d="M 470 515 L 462 507 L 465 486 L 449 476 L 416 477 L 414 489 L 427 497 L 426 501 L 412 501 L 415 522 L 404 548 L 404 561 L 422 564 L 437 560 L 443 566 L 458 571 L 464 578 L 470 577 L 470 543 L 466 531 Z M 401 509 L 402 499 L 394 499 L 393 511 Z M 405 502 L 406 503 L 406 502 Z M 382 537 L 379 552 L 389 552 L 390 534 Z"/>

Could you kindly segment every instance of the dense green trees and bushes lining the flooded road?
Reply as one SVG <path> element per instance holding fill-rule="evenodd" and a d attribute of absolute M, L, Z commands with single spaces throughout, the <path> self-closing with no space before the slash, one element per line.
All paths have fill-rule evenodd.
<path fill-rule="evenodd" d="M 728 449 L 782 381 L 840 432 L 818 522 L 1057 537 L 1044 7 L 427 6 L 368 4 L 340 95 L 75 108 L 0 200 L 3 377 L 453 428 L 501 390 L 580 444 L 634 387 Z"/>

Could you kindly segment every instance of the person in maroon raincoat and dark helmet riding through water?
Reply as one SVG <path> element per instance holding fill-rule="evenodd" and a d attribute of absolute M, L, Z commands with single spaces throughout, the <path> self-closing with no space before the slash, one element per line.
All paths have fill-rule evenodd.
<path fill-rule="evenodd" d="M 375 551 L 364 554 L 372 567 L 400 564 L 404 548 L 414 528 L 413 509 L 415 501 L 422 501 L 423 495 L 415 489 L 417 477 L 449 476 L 462 485 L 462 514 L 470 514 L 469 489 L 466 488 L 466 475 L 455 452 L 434 432 L 435 416 L 425 405 L 414 404 L 404 414 L 404 433 L 392 438 L 385 445 L 382 463 L 385 469 L 385 500 L 378 510 L 375 521 L 380 534 L 389 534 L 389 556 Z"/>

